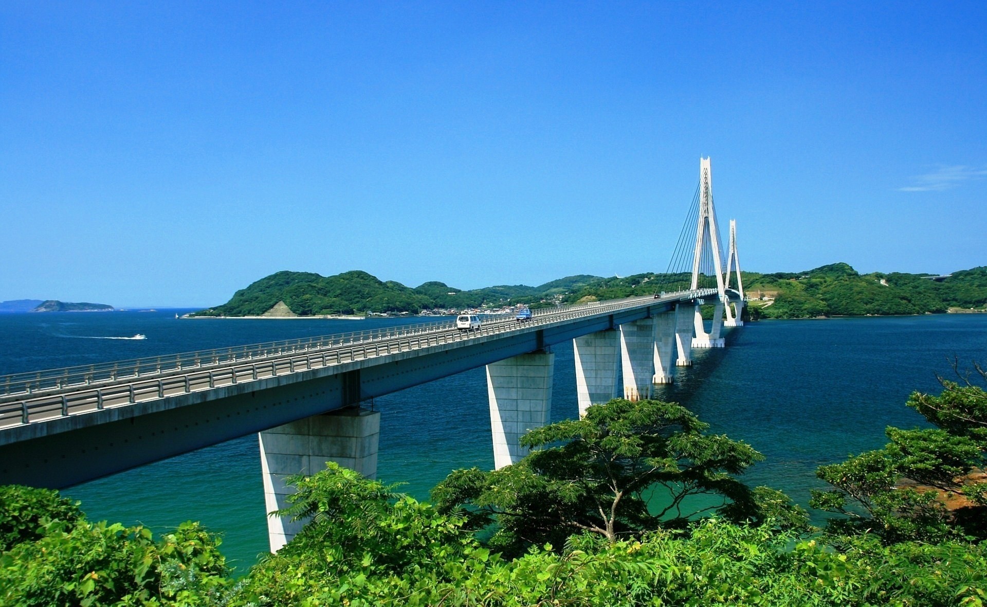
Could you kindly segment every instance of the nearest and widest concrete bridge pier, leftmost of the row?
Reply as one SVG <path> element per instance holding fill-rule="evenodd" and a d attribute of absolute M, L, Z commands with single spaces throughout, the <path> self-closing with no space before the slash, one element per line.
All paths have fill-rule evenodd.
<path fill-rule="evenodd" d="M 350 408 L 306 417 L 259 433 L 264 500 L 267 512 L 288 505 L 294 488 L 284 480 L 294 474 L 313 475 L 332 461 L 368 479 L 377 477 L 377 444 L 380 413 Z M 267 517 L 270 552 L 291 541 L 305 521 Z"/>

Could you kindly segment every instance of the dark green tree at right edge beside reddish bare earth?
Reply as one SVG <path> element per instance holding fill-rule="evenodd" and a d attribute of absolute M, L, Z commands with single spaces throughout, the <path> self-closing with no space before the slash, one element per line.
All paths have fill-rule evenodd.
<path fill-rule="evenodd" d="M 883 449 L 819 468 L 817 476 L 835 489 L 813 492 L 810 504 L 842 515 L 830 521 L 832 531 L 866 530 L 888 543 L 987 537 L 987 483 L 970 476 L 987 463 L 987 393 L 969 381 L 942 383 L 941 395 L 908 400 L 939 427 L 888 427 Z M 950 508 L 952 494 L 972 503 Z"/>

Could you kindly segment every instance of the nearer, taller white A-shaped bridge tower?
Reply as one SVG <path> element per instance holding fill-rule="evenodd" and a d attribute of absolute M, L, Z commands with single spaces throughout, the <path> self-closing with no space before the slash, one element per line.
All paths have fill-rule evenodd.
<path fill-rule="evenodd" d="M 717 226 L 717 212 L 713 206 L 713 169 L 709 157 L 699 159 L 699 222 L 696 226 L 696 248 L 692 261 L 692 289 L 699 288 L 703 254 L 707 247 L 712 250 L 714 273 L 717 276 L 717 305 L 713 313 L 713 327 L 710 333 L 706 333 L 701 307 L 696 306 L 693 319 L 696 337 L 692 340 L 692 346 L 723 347 L 720 332 L 723 324 L 723 308 L 727 303 L 726 285 L 723 283 L 720 228 Z"/>

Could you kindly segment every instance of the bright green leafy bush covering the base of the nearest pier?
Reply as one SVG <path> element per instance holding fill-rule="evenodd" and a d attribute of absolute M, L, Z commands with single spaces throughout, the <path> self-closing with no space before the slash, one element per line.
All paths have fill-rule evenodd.
<path fill-rule="evenodd" d="M 446 580 L 445 569 L 477 548 L 460 517 L 440 514 L 333 462 L 288 483 L 297 492 L 275 515 L 311 520 L 252 569 L 232 604 L 376 604 L 381 593 L 400 592 L 400 584 L 377 587 L 374 580 L 393 581 L 408 572 Z"/>

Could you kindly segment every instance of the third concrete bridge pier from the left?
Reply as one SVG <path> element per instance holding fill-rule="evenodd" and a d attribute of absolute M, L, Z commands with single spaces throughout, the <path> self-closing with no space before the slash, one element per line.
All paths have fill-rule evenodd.
<path fill-rule="evenodd" d="M 617 398 L 619 342 L 620 337 L 612 329 L 572 340 L 579 417 L 586 415 L 590 405 Z"/>

